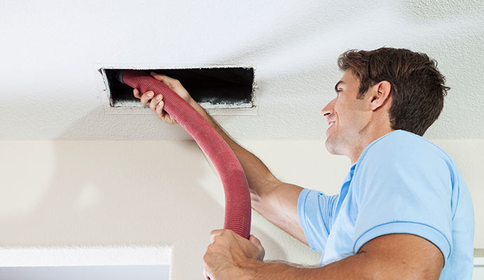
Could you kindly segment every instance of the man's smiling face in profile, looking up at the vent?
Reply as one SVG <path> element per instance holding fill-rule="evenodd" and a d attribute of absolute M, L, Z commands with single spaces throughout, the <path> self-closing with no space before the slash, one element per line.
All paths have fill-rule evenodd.
<path fill-rule="evenodd" d="M 335 155 L 350 155 L 351 149 L 361 142 L 361 131 L 368 123 L 364 99 L 356 99 L 359 80 L 351 70 L 344 72 L 335 86 L 337 97 L 321 111 L 328 120 L 325 146 Z"/>

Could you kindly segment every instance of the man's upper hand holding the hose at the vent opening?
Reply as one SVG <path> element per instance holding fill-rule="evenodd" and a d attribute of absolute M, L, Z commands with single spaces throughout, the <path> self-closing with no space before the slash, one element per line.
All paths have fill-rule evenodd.
<path fill-rule="evenodd" d="M 187 90 L 184 89 L 183 85 L 180 83 L 179 80 L 170 78 L 166 75 L 159 73 L 152 72 L 150 74 L 153 78 L 156 78 L 156 80 L 159 80 L 161 81 L 161 83 L 167 85 L 170 90 L 173 90 L 178 95 L 180 95 L 180 97 L 182 97 L 190 105 L 195 102 L 194 99 L 191 98 Z M 178 123 L 172 116 L 170 116 L 170 114 L 166 113 L 166 111 L 163 111 L 163 106 L 165 106 L 165 103 L 163 102 L 163 96 L 161 94 L 158 94 L 156 95 L 156 97 L 153 98 L 154 92 L 152 92 L 151 90 L 149 92 L 144 92 L 143 94 L 141 94 L 141 92 L 136 88 L 133 90 L 133 94 L 137 99 L 141 100 L 142 104 L 148 105 L 149 109 L 155 111 L 156 116 L 158 116 L 160 120 L 163 120 L 164 122 L 170 123 L 172 125 Z"/>

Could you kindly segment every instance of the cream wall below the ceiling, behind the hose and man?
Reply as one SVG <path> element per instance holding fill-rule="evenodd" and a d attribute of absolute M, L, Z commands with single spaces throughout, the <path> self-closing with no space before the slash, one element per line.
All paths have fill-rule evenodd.
<path fill-rule="evenodd" d="M 474 246 L 484 248 L 484 140 L 436 143 L 464 174 L 475 205 Z M 327 193 L 337 193 L 349 168 L 349 160 L 329 155 L 322 141 L 241 144 L 283 181 Z M 19 253 L 25 247 L 168 246 L 172 279 L 201 279 L 208 233 L 223 225 L 224 197 L 194 141 L 2 141 L 0 155 L 0 247 L 10 250 L 11 262 L 36 262 Z M 267 259 L 318 262 L 317 253 L 257 213 L 252 232 Z M 110 258 L 112 253 L 101 253 L 97 262 L 156 264 L 140 262 L 142 253 L 119 262 Z M 60 265 L 58 258 L 39 262 Z"/>

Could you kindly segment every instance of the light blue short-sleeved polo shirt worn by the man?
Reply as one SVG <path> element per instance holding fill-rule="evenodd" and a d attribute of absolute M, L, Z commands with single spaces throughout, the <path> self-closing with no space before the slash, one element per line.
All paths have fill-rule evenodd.
<path fill-rule="evenodd" d="M 381 235 L 407 233 L 442 252 L 440 279 L 471 279 L 474 216 L 469 190 L 450 156 L 416 134 L 396 130 L 368 145 L 340 193 L 304 189 L 297 212 L 320 265 L 358 253 Z"/>

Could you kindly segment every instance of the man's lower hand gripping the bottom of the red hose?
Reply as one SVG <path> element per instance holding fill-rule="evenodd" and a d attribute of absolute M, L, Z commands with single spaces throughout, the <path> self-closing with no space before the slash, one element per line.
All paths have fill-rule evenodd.
<path fill-rule="evenodd" d="M 210 245 L 203 255 L 203 276 L 211 280 L 243 279 L 246 268 L 264 259 L 259 239 L 245 239 L 231 230 L 210 232 Z"/>

